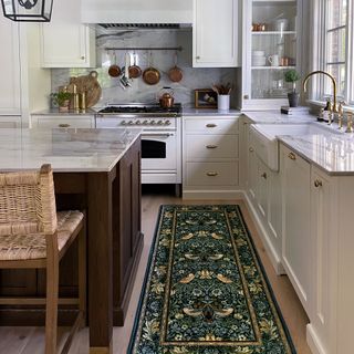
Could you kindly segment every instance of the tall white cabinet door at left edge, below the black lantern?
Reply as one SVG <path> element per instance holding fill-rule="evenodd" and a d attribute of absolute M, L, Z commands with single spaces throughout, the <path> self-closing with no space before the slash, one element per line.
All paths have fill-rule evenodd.
<path fill-rule="evenodd" d="M 19 24 L 0 15 L 0 115 L 21 114 Z"/>

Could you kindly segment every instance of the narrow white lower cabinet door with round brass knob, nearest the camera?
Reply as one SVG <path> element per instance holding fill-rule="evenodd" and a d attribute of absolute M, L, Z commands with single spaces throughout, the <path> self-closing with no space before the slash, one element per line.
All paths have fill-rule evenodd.
<path fill-rule="evenodd" d="M 336 237 L 333 227 L 336 219 L 331 212 L 335 202 L 334 187 L 331 186 L 330 177 L 315 167 L 311 170 L 311 235 L 314 237 L 314 304 L 309 314 L 311 325 L 324 347 L 330 348 L 335 342 L 333 327 L 333 305 L 336 299 L 335 284 L 337 274 Z M 336 208 L 334 208 L 336 210 Z M 334 340 L 334 341 L 331 341 Z M 332 353 L 329 350 L 329 353 Z"/>

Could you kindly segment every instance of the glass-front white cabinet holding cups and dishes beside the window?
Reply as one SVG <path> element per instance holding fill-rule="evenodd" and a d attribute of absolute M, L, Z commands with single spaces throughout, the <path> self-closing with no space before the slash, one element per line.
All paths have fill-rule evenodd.
<path fill-rule="evenodd" d="M 284 73 L 301 70 L 301 0 L 243 2 L 242 108 L 288 105 Z"/>

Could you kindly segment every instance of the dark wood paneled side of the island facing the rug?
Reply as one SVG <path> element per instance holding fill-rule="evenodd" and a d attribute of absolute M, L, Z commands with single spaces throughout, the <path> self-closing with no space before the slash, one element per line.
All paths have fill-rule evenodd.
<path fill-rule="evenodd" d="M 140 210 L 140 139 L 119 160 L 118 184 L 114 195 L 119 198 L 118 210 L 113 210 L 114 227 L 118 228 L 119 239 L 113 243 L 113 306 L 115 325 L 123 325 L 133 289 L 134 269 L 143 247 Z"/>

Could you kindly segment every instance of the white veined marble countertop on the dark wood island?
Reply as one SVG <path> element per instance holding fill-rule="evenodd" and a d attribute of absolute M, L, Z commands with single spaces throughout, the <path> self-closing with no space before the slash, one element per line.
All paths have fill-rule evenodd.
<path fill-rule="evenodd" d="M 0 170 L 110 171 L 140 129 L 0 129 Z"/>

